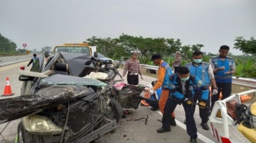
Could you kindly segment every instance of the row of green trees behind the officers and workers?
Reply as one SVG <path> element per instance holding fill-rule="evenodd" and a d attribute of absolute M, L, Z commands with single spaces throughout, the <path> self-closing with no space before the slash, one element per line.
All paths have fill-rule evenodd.
<path fill-rule="evenodd" d="M 256 54 L 256 40 L 251 37 L 250 40 L 245 40 L 243 37 L 237 37 L 234 48 L 239 49 L 245 55 Z M 138 51 L 139 60 L 141 63 L 149 63 L 153 53 L 157 52 L 163 57 L 174 56 L 174 52 L 181 51 L 183 59 L 187 62 L 192 58 L 192 53 L 195 50 L 201 50 L 203 44 L 197 43 L 193 45 L 182 45 L 180 39 L 174 38 L 152 38 L 152 37 L 133 37 L 122 33 L 118 38 L 101 38 L 91 37 L 84 41 L 90 46 L 97 46 L 97 51 L 104 56 L 112 59 L 121 59 L 123 57 L 130 57 L 130 52 Z M 229 53 L 232 55 L 232 53 Z M 211 52 L 204 52 L 206 56 L 214 56 L 216 54 Z"/>

